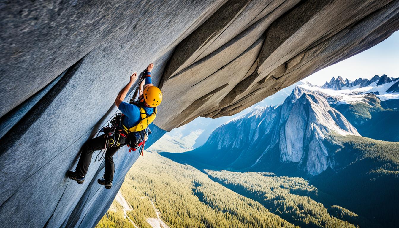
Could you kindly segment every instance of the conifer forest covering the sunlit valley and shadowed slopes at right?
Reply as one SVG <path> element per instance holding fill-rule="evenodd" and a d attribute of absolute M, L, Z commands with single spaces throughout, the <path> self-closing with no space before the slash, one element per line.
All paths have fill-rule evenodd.
<path fill-rule="evenodd" d="M 335 169 L 314 177 L 200 170 L 147 150 L 120 189 L 132 210 L 126 217 L 114 201 L 97 227 L 152 228 L 156 210 L 171 228 L 392 227 L 399 143 L 333 135 L 326 144 Z"/>

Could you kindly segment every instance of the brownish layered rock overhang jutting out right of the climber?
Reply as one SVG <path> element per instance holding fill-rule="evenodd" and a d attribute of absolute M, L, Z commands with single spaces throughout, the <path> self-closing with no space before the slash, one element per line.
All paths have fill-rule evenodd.
<path fill-rule="evenodd" d="M 399 28 L 398 1 L 259 1 L 265 7 L 251 8 L 252 2 L 234 5 L 237 12 L 230 23 L 224 14 L 213 14 L 208 21 L 219 21 L 223 28 L 204 22 L 176 47 L 161 81 L 166 99 L 162 110 L 167 111 L 156 124 L 162 129 L 170 130 L 197 116 L 233 115 L 370 48 Z M 250 17 L 249 22 L 239 23 L 243 15 Z M 228 32 L 230 27 L 242 32 L 235 35 Z M 264 28 L 263 33 L 257 31 Z M 242 49 L 256 52 L 251 45 L 259 41 L 262 47 L 253 53 L 257 57 L 251 67 L 247 61 L 236 61 L 242 58 Z M 237 64 L 245 73 L 229 69 Z M 194 103 L 196 108 L 191 107 Z"/>

